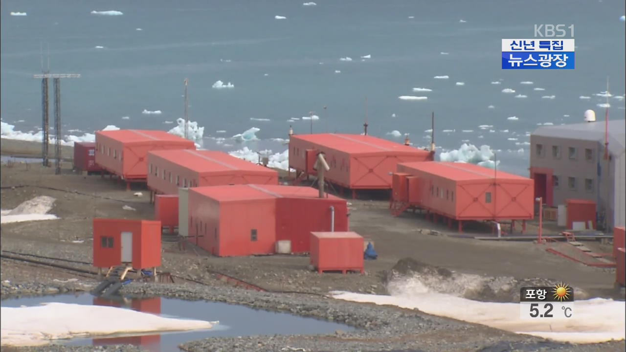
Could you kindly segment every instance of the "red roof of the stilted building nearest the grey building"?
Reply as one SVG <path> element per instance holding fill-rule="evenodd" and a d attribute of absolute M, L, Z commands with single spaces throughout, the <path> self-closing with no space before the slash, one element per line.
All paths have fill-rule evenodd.
<path fill-rule="evenodd" d="M 455 162 L 408 162 L 399 163 L 406 168 L 422 172 L 434 173 L 454 181 L 470 181 L 485 179 L 529 180 L 527 177 L 513 175 L 513 173 L 493 170 L 472 163 Z M 410 173 L 410 171 L 409 171 Z"/>

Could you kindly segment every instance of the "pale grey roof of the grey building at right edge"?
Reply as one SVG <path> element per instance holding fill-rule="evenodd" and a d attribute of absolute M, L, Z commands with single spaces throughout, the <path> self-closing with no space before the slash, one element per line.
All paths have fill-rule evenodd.
<path fill-rule="evenodd" d="M 542 126 L 532 133 L 533 136 L 591 140 L 601 144 L 605 142 L 605 122 L 583 122 L 571 125 Z M 608 150 L 614 155 L 626 147 L 626 120 L 608 121 Z"/>

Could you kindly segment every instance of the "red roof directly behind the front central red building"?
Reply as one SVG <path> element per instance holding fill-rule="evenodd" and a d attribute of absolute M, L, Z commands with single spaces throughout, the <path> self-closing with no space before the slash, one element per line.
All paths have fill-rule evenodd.
<path fill-rule="evenodd" d="M 277 173 L 275 170 L 272 170 L 270 168 L 251 163 L 240 158 L 235 158 L 228 153 L 216 152 L 213 150 L 151 150 L 148 153 L 198 173 L 229 171 L 247 171 L 254 173 L 272 174 Z"/>

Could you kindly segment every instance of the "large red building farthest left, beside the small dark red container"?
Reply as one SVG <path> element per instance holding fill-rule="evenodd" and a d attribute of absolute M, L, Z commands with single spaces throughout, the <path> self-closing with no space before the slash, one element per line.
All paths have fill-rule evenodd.
<path fill-rule="evenodd" d="M 96 164 L 130 182 L 148 176 L 148 152 L 193 149 L 195 144 L 165 131 L 115 130 L 96 132 Z"/>

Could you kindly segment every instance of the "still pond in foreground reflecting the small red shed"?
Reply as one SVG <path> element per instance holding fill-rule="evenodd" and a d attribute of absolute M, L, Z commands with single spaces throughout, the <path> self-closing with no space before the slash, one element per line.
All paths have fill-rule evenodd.
<path fill-rule="evenodd" d="M 211 337 L 236 337 L 274 334 L 329 334 L 337 329 L 352 331 L 344 324 L 314 318 L 304 318 L 287 313 L 274 313 L 234 304 L 209 301 L 184 301 L 172 298 L 103 299 L 90 294 L 63 294 L 58 296 L 4 299 L 3 307 L 38 306 L 41 303 L 93 304 L 133 309 L 143 313 L 158 314 L 166 318 L 188 318 L 219 321 L 213 329 L 205 331 L 161 333 L 115 338 L 57 340 L 54 343 L 99 346 L 104 344 L 135 344 L 150 352 L 178 351 L 178 344 Z"/>

